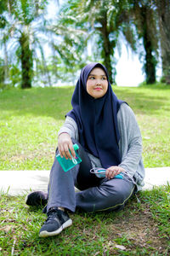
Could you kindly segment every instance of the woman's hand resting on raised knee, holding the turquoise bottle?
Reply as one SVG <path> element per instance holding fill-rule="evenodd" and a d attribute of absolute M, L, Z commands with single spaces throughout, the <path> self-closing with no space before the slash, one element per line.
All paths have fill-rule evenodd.
<path fill-rule="evenodd" d="M 58 148 L 59 148 L 59 154 L 61 157 L 65 157 L 65 159 L 70 159 L 70 160 L 72 159 L 71 154 L 74 158 L 76 157 L 75 150 L 73 148 L 73 144 L 71 141 L 71 137 L 68 133 L 63 132 L 59 135 Z"/>

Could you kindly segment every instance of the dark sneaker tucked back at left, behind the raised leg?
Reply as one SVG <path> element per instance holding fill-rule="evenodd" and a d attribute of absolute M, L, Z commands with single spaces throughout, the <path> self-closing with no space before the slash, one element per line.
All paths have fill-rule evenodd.
<path fill-rule="evenodd" d="M 48 203 L 48 193 L 43 191 L 35 191 L 26 197 L 26 205 L 31 207 L 45 207 Z"/>

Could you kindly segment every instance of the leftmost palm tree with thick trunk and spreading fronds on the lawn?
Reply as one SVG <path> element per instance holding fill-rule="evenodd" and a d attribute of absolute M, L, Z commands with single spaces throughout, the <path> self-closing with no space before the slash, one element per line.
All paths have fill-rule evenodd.
<path fill-rule="evenodd" d="M 43 10 L 46 4 L 46 0 L 40 3 L 36 0 L 8 1 L 8 13 L 4 15 L 3 41 L 8 41 L 8 45 L 20 60 L 22 89 L 31 88 L 33 54 L 39 44 L 37 32 L 43 27 Z"/>

